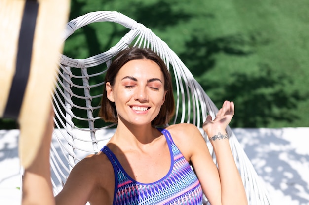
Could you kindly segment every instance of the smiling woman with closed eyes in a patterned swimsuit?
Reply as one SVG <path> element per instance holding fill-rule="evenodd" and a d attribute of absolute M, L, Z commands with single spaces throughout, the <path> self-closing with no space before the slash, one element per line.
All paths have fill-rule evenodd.
<path fill-rule="evenodd" d="M 225 131 L 234 114 L 232 102 L 225 101 L 215 119 L 208 116 L 203 124 L 217 169 L 196 126 L 164 127 L 174 112 L 171 77 L 153 51 L 129 48 L 121 52 L 105 82 L 100 114 L 105 121 L 118 123 L 115 134 L 100 153 L 77 163 L 55 201 L 48 151 L 42 148 L 25 171 L 24 204 L 42 199 L 44 204 L 56 205 L 87 201 L 91 205 L 200 205 L 203 193 L 211 205 L 247 204 Z M 47 142 L 42 147 L 48 147 Z M 31 186 L 33 180 L 39 189 Z"/>

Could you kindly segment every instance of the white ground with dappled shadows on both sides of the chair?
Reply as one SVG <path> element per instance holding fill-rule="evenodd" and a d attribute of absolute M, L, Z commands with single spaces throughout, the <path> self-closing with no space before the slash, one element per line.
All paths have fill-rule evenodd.
<path fill-rule="evenodd" d="M 309 205 L 309 128 L 232 129 L 272 197 Z M 18 130 L 0 130 L 0 205 L 20 205 Z"/>

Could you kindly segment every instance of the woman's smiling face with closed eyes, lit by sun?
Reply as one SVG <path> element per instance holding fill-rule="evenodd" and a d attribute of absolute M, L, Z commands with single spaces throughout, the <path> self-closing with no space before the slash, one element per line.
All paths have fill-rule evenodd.
<path fill-rule="evenodd" d="M 106 83 L 107 97 L 115 102 L 118 123 L 149 124 L 159 114 L 165 100 L 164 76 L 152 60 L 131 60 L 124 64 L 112 87 Z"/>

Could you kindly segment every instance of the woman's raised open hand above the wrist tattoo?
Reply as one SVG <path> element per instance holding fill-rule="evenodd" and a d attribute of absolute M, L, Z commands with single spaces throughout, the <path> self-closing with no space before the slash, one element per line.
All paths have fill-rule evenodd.
<path fill-rule="evenodd" d="M 233 116 L 234 103 L 226 100 L 214 120 L 212 120 L 210 115 L 206 117 L 206 121 L 203 123 L 203 129 L 207 135 L 223 132 L 231 122 Z"/>

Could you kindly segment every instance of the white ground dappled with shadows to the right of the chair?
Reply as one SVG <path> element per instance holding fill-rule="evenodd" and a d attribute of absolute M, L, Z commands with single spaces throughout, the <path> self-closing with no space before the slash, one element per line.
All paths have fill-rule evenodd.
<path fill-rule="evenodd" d="M 273 205 L 309 205 L 309 128 L 233 129 Z"/>

